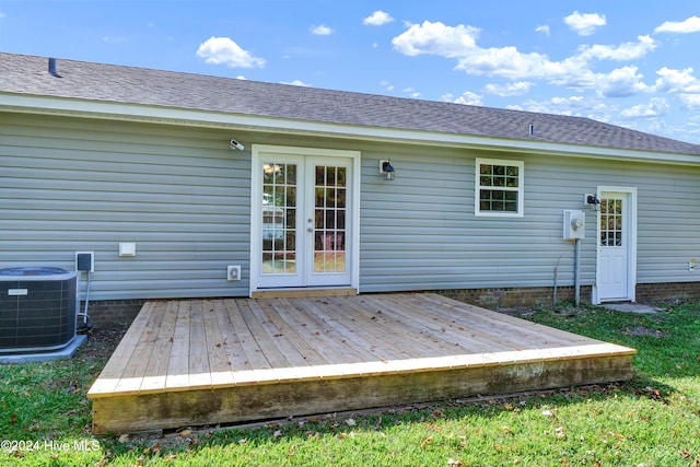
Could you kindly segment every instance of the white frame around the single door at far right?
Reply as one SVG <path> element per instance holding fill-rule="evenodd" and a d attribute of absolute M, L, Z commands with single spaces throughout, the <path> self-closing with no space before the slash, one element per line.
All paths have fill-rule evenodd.
<path fill-rule="evenodd" d="M 617 297 L 615 300 L 623 300 L 634 302 L 635 289 L 637 289 L 637 187 L 619 187 L 619 186 L 599 186 L 597 188 L 597 198 L 605 198 L 605 194 L 625 194 L 627 195 L 627 296 Z M 600 269 L 600 211 L 598 210 L 596 217 L 596 268 L 595 268 L 595 284 L 593 285 L 592 302 L 594 305 L 600 304 L 606 301 L 605 297 L 599 296 L 598 285 L 602 280 Z"/>

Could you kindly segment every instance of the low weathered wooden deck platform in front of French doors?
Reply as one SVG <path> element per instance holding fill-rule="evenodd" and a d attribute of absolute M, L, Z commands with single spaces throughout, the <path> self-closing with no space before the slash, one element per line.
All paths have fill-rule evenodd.
<path fill-rule="evenodd" d="M 151 301 L 88 397 L 122 433 L 622 381 L 633 353 L 438 294 Z"/>

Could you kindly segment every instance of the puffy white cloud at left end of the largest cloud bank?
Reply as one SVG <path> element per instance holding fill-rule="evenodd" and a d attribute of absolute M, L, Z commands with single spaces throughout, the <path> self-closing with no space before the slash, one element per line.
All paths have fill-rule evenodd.
<path fill-rule="evenodd" d="M 392 44 L 396 50 L 408 56 L 434 54 L 447 58 L 464 57 L 469 49 L 476 47 L 479 31 L 478 27 L 462 24 L 452 27 L 440 22 L 424 21 L 394 37 Z"/>

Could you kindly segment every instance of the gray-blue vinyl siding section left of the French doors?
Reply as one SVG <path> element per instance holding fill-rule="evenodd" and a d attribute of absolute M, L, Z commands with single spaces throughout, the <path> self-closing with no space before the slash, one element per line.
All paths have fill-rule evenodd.
<path fill-rule="evenodd" d="M 2 115 L 0 267 L 73 270 L 94 250 L 94 300 L 246 295 L 225 271 L 249 261 L 249 157 L 226 136 Z"/>

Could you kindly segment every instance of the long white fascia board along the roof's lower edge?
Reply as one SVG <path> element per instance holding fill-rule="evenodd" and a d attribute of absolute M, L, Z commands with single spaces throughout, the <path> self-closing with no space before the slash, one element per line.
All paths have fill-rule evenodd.
<path fill-rule="evenodd" d="M 324 121 L 294 120 L 271 116 L 230 114 L 116 102 L 95 102 L 54 96 L 0 93 L 0 110 L 191 127 L 245 129 L 289 135 L 351 138 L 366 141 L 432 144 L 480 149 L 485 151 L 508 151 L 523 154 L 545 153 L 558 156 L 604 159 L 606 161 L 700 165 L 700 156 L 693 154 L 625 150 L 395 128 L 361 127 Z"/>

